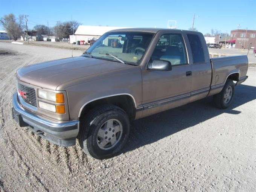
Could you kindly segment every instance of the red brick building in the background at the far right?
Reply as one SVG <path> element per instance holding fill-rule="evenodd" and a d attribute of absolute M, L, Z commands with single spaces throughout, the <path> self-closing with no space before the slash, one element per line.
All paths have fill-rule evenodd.
<path fill-rule="evenodd" d="M 237 49 L 248 49 L 256 48 L 256 30 L 246 30 L 246 29 L 236 29 L 230 32 L 230 38 L 227 42 L 232 42 L 235 44 Z"/>

